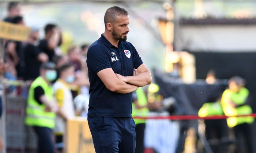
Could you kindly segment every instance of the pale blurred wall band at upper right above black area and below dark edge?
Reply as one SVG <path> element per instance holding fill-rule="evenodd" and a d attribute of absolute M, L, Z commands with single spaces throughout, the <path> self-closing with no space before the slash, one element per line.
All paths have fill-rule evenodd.
<path fill-rule="evenodd" d="M 176 50 L 255 52 L 255 25 L 180 25 Z"/>

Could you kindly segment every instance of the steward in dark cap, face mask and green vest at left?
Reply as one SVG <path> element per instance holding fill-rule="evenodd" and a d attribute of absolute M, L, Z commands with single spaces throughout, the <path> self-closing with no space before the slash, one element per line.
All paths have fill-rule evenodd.
<path fill-rule="evenodd" d="M 54 153 L 52 129 L 55 126 L 55 113 L 59 107 L 53 98 L 50 82 L 56 77 L 55 64 L 42 63 L 40 76 L 35 79 L 29 89 L 25 124 L 32 126 L 37 135 L 37 153 Z"/>

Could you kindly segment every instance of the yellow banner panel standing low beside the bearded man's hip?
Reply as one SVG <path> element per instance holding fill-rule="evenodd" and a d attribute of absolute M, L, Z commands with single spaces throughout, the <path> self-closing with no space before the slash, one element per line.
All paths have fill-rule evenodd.
<path fill-rule="evenodd" d="M 95 153 L 93 138 L 86 118 L 76 117 L 67 121 L 67 153 Z"/>

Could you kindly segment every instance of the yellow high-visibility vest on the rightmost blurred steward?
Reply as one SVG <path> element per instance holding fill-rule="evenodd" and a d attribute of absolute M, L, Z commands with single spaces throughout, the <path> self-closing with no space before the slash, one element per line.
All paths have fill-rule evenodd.
<path fill-rule="evenodd" d="M 229 118 L 227 118 L 227 125 L 229 127 L 234 127 L 242 123 L 248 123 L 248 124 L 253 123 L 254 117 L 252 116 L 233 117 L 236 115 L 248 115 L 252 113 L 251 106 L 243 105 L 247 101 L 248 95 L 249 95 L 249 90 L 246 88 L 240 89 L 238 93 L 235 93 L 229 89 L 226 89 L 223 92 L 222 98 L 221 98 L 221 105 L 225 115 L 229 116 Z M 242 105 L 242 106 L 234 108 L 230 105 L 230 100 L 236 103 L 236 105 Z"/>

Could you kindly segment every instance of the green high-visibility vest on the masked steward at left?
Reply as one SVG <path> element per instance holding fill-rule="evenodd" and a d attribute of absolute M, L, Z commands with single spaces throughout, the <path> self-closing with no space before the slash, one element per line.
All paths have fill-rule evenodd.
<path fill-rule="evenodd" d="M 49 86 L 41 76 L 39 76 L 37 79 L 35 79 L 29 88 L 25 124 L 28 126 L 49 127 L 50 129 L 53 129 L 55 126 L 55 113 L 46 112 L 45 104 L 40 105 L 34 98 L 34 89 L 38 86 L 42 87 L 48 100 L 52 101 L 52 87 Z"/>

